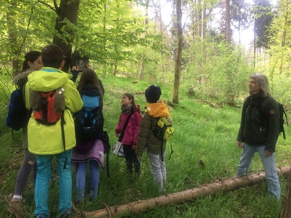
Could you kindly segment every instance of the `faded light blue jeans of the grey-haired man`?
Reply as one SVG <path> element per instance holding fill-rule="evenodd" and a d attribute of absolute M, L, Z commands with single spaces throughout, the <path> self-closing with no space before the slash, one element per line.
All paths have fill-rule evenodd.
<path fill-rule="evenodd" d="M 237 177 L 247 174 L 251 160 L 255 152 L 258 152 L 261 158 L 265 175 L 266 175 L 266 179 L 268 182 L 269 194 L 271 196 L 276 196 L 277 198 L 280 198 L 281 188 L 280 188 L 276 166 L 275 166 L 275 153 L 273 153 L 269 157 L 266 157 L 265 147 L 266 146 L 250 146 L 246 143 L 243 144 L 242 155 L 241 155 L 240 163 L 238 165 L 239 170 L 237 173 Z"/>

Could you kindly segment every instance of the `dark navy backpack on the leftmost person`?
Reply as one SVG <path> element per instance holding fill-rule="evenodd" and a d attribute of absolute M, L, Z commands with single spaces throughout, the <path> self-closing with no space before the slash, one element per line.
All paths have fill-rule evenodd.
<path fill-rule="evenodd" d="M 22 88 L 16 89 L 11 93 L 8 106 L 6 125 L 16 131 L 25 126 L 30 118 L 30 110 L 25 108 L 22 96 Z"/>

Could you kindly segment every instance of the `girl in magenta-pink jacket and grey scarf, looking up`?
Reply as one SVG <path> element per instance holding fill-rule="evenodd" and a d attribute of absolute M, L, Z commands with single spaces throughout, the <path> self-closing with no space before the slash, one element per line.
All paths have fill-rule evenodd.
<path fill-rule="evenodd" d="M 119 122 L 115 128 L 116 137 L 120 136 L 125 121 L 127 120 L 128 116 L 131 116 L 124 132 L 122 144 L 128 172 L 132 173 L 132 165 L 134 164 L 134 171 L 139 174 L 140 162 L 135 155 L 135 146 L 142 120 L 141 110 L 139 106 L 134 103 L 134 96 L 130 93 L 124 93 L 122 95 L 121 104 L 121 114 Z"/>

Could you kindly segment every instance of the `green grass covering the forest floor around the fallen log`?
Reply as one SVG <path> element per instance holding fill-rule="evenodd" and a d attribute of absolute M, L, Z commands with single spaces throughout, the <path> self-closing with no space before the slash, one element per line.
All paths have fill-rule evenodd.
<path fill-rule="evenodd" d="M 114 128 L 118 122 L 121 106 L 121 95 L 125 92 L 134 93 L 136 103 L 141 109 L 146 105 L 144 92 L 149 85 L 145 81 L 132 84 L 129 78 L 108 77 L 102 79 L 105 88 L 104 118 L 105 130 L 108 131 L 110 142 L 113 144 L 115 137 Z M 158 84 L 162 87 L 162 100 L 171 100 L 172 85 Z M 3 97 L 3 96 L 2 96 Z M 1 103 L 2 104 L 2 103 Z M 174 193 L 199 185 L 212 183 L 213 179 L 226 179 L 236 174 L 237 164 L 241 150 L 236 147 L 236 135 L 240 124 L 241 109 L 225 106 L 213 109 L 209 105 L 201 104 L 187 94 L 183 87 L 179 93 L 179 104 L 170 108 L 174 119 L 175 134 L 171 141 L 174 153 L 168 143 L 166 150 L 167 190 Z M 11 132 L 4 127 L 6 111 L 0 111 L 3 127 L 0 135 L 0 195 L 9 196 L 14 191 L 17 170 L 22 161 L 21 132 L 11 138 Z M 276 147 L 276 165 L 290 164 L 291 155 L 291 130 L 286 127 L 287 140 L 279 137 Z M 250 170 L 262 169 L 259 156 L 252 161 Z M 98 197 L 94 202 L 86 201 L 83 210 L 93 211 L 104 208 L 102 202 L 108 206 L 120 205 L 132 201 L 159 196 L 153 185 L 153 177 L 149 163 L 144 154 L 141 159 L 140 178 L 126 175 L 126 166 L 123 158 L 110 155 L 111 177 L 106 177 L 106 172 L 100 173 Z M 211 176 L 210 176 L 211 174 Z M 87 174 L 89 181 L 89 174 Z M 73 187 L 75 187 L 75 171 L 73 170 Z M 282 195 L 285 190 L 285 179 L 280 177 Z M 89 187 L 88 187 L 89 188 Z M 58 207 L 58 182 L 54 175 L 50 184 L 49 208 L 51 214 L 57 216 Z M 32 178 L 26 188 L 27 215 L 33 214 L 33 184 Z M 73 201 L 76 193 L 73 189 Z M 9 217 L 5 204 L 0 204 L 0 217 Z M 272 205 L 272 206 L 270 206 Z M 161 217 L 161 218 L 252 218 L 252 217 L 277 217 L 280 202 L 268 198 L 267 185 L 262 182 L 253 187 L 242 187 L 235 191 L 221 192 L 203 198 L 170 205 L 168 207 L 152 209 L 140 214 L 123 215 L 128 217 Z"/>

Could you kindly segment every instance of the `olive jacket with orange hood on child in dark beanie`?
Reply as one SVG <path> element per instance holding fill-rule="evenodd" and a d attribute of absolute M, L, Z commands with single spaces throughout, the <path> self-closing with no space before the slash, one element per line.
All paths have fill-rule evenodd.
<path fill-rule="evenodd" d="M 157 102 L 146 105 L 147 112 L 144 113 L 138 133 L 138 139 L 135 148 L 135 154 L 141 155 L 145 148 L 154 154 L 161 154 L 161 140 L 158 140 L 153 130 L 156 128 L 160 117 L 169 116 L 167 106 L 163 102 Z M 166 141 L 163 140 L 162 152 L 166 150 Z"/>

